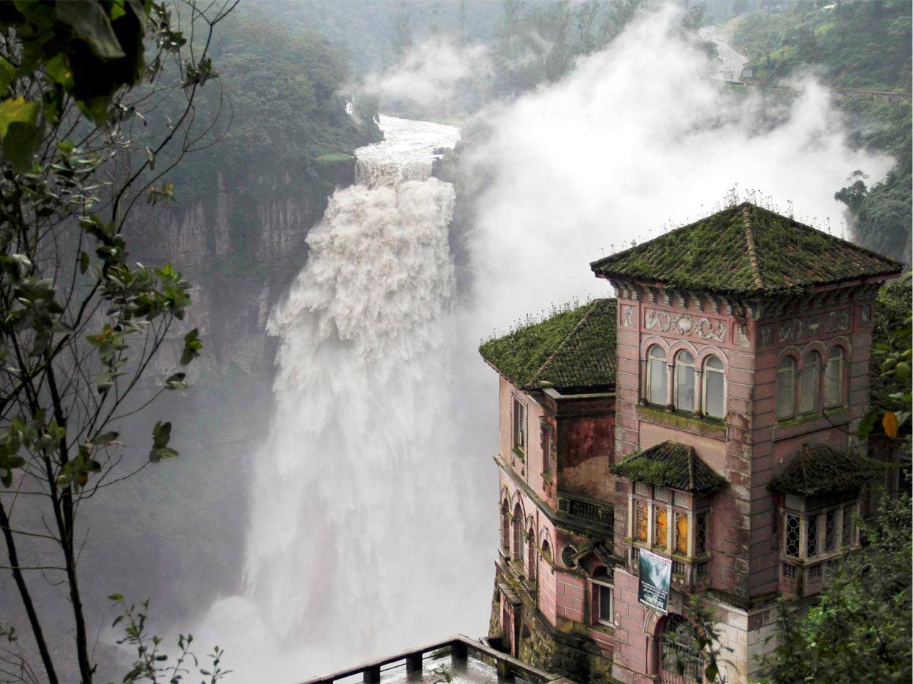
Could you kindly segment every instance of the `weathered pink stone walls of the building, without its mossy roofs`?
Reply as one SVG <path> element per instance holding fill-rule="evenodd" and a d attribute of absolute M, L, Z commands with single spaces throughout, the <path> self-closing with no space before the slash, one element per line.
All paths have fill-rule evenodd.
<path fill-rule="evenodd" d="M 558 652 L 572 659 L 601 654 L 611 667 L 598 675 L 591 669 L 590 681 L 699 682 L 699 673 L 683 679 L 664 668 L 672 648 L 666 629 L 688 619 L 685 598 L 697 594 L 731 648 L 727 681 L 757 674 L 773 645 L 778 597 L 813 596 L 830 560 L 857 543 L 852 530 L 834 543 L 836 533 L 825 526 L 844 524 L 855 501 L 797 503 L 769 485 L 805 443 L 858 446 L 856 426 L 868 407 L 872 303 L 882 281 L 763 301 L 613 283 L 614 391 L 523 391 L 502 377 L 496 597 L 503 646 L 543 658 L 534 663 L 542 667 L 553 667 Z M 665 368 L 650 366 L 654 348 L 662 350 Z M 679 352 L 693 359 L 693 390 L 677 384 Z M 719 417 L 707 415 L 711 358 L 725 378 Z M 666 373 L 660 401 L 649 389 L 649 374 L 657 372 Z M 677 408 L 679 391 L 693 391 L 682 395 L 689 410 Z M 520 446 L 518 410 L 525 422 Z M 686 492 L 611 472 L 626 456 L 665 441 L 693 447 L 726 485 Z M 826 521 L 803 513 L 819 504 Z M 793 509 L 801 522 L 786 530 Z M 830 550 L 822 541 L 824 552 L 811 553 L 816 534 L 831 535 Z M 637 600 L 642 548 L 675 564 L 668 616 Z M 557 644 L 548 657 L 529 636 L 535 625 Z M 574 661 L 578 671 L 594 667 L 586 658 Z"/>

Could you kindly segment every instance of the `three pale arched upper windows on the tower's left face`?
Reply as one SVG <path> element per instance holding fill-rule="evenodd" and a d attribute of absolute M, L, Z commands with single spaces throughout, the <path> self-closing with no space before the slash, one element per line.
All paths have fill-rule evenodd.
<path fill-rule="evenodd" d="M 704 360 L 703 373 L 696 372 L 694 357 L 685 349 L 676 354 L 672 372 L 672 403 L 677 410 L 704 413 L 712 418 L 726 415 L 726 374 L 717 357 Z M 650 347 L 646 363 L 646 400 L 656 406 L 668 403 L 666 351 Z M 701 377 L 703 376 L 703 377 Z"/>

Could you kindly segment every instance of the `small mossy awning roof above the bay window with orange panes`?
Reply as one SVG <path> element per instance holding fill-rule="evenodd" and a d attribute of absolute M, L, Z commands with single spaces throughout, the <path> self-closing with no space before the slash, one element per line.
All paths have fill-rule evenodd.
<path fill-rule="evenodd" d="M 694 447 L 664 441 L 615 463 L 612 472 L 632 482 L 672 487 L 682 492 L 712 492 L 726 480 L 700 460 Z"/>

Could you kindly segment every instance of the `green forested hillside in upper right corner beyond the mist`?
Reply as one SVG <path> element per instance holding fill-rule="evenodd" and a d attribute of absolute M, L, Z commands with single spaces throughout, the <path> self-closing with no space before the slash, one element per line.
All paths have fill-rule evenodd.
<path fill-rule="evenodd" d="M 833 88 L 910 92 L 911 17 L 904 0 L 844 2 L 828 7 L 799 2 L 780 13 L 741 16 L 733 40 L 748 57 L 760 85 L 813 70 Z M 910 103 L 865 94 L 838 105 L 855 141 L 887 152 L 897 164 L 870 185 L 865 171 L 849 179 L 836 198 L 854 219 L 862 244 L 910 262 Z"/>

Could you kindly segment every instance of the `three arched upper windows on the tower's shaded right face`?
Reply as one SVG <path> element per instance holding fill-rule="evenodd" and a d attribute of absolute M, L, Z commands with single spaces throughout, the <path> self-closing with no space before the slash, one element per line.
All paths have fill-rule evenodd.
<path fill-rule="evenodd" d="M 783 357 L 777 369 L 777 420 L 793 418 L 797 413 L 813 413 L 842 406 L 844 363 L 843 347 L 832 347 L 824 364 L 817 351 L 807 352 L 802 359 L 802 368 L 797 368 L 796 358 Z"/>

